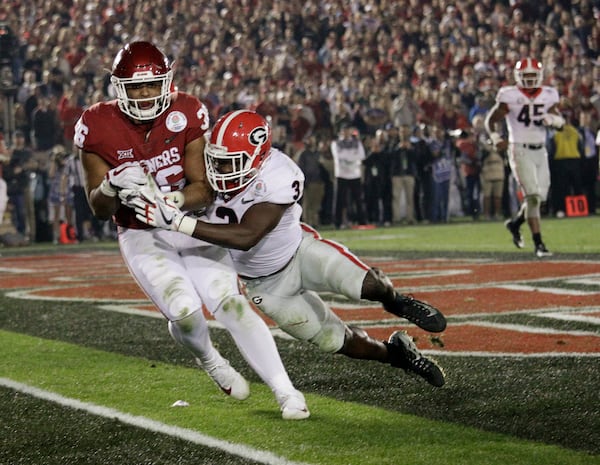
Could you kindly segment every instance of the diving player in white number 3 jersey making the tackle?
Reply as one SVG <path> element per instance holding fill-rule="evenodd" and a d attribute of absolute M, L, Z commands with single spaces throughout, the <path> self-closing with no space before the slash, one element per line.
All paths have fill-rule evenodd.
<path fill-rule="evenodd" d="M 391 364 L 434 386 L 444 384 L 441 368 L 418 351 L 406 332 L 375 340 L 344 323 L 319 297 L 317 292 L 334 292 L 379 301 L 425 330 L 446 327 L 437 309 L 395 291 L 380 270 L 300 222 L 304 175 L 271 147 L 271 130 L 262 116 L 237 110 L 221 117 L 205 158 L 208 180 L 218 192 L 207 210 L 208 222 L 184 215 L 161 196 L 136 199 L 138 219 L 229 248 L 252 302 L 295 338 L 325 352 Z"/>

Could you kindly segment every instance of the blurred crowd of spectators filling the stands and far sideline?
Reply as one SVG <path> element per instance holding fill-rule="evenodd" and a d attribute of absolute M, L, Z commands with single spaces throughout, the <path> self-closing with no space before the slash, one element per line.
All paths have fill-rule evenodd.
<path fill-rule="evenodd" d="M 0 7 L 0 228 L 15 227 L 13 242 L 114 237 L 77 206 L 73 125 L 114 97 L 112 61 L 133 40 L 159 46 L 178 90 L 213 120 L 266 116 L 307 175 L 305 217 L 338 228 L 509 217 L 518 192 L 482 122 L 516 61 L 537 58 L 581 135 L 582 166 L 595 157 L 595 178 L 582 169 L 567 186 L 595 213 L 598 0 L 14 0 Z M 339 179 L 352 181 L 342 195 Z M 560 198 L 549 203 L 564 214 Z"/>

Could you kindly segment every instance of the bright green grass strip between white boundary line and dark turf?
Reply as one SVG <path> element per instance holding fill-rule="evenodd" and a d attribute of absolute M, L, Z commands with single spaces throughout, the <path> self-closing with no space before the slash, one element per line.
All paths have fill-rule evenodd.
<path fill-rule="evenodd" d="M 262 385 L 237 402 L 198 370 L 0 331 L 3 377 L 297 462 L 321 465 L 589 465 L 596 457 L 308 394 L 308 421 L 284 422 Z M 187 408 L 172 408 L 176 400 Z"/>

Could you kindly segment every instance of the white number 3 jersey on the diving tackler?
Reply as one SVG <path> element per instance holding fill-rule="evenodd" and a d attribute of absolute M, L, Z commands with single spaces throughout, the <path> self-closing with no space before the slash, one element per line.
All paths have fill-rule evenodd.
<path fill-rule="evenodd" d="M 260 174 L 243 192 L 229 200 L 219 196 L 208 208 L 206 216 L 211 223 L 233 223 L 257 203 L 293 204 L 277 226 L 250 250 L 229 250 L 238 274 L 268 276 L 288 264 L 302 240 L 302 207 L 298 200 L 303 189 L 302 170 L 283 152 L 271 149 Z"/>

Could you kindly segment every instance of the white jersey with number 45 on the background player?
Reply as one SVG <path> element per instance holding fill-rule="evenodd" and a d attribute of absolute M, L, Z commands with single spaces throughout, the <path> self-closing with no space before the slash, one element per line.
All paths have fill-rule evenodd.
<path fill-rule="evenodd" d="M 546 127 L 542 118 L 559 102 L 555 88 L 542 86 L 533 97 L 529 97 L 517 86 L 505 86 L 498 90 L 496 101 L 508 106 L 506 125 L 509 143 L 546 144 Z"/>

